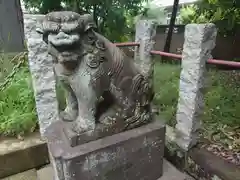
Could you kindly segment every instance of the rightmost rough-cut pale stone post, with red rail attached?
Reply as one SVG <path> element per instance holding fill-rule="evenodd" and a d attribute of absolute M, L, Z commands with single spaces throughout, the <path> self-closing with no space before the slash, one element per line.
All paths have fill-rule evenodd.
<path fill-rule="evenodd" d="M 176 140 L 183 150 L 197 143 L 203 112 L 206 62 L 215 47 L 217 30 L 214 24 L 189 24 L 185 28 L 182 53 Z"/>

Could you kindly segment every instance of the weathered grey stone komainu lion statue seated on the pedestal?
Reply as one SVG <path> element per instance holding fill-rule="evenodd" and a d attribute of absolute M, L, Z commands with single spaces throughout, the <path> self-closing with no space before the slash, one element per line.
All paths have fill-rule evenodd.
<path fill-rule="evenodd" d="M 77 133 L 122 121 L 130 129 L 152 119 L 152 85 L 118 47 L 97 33 L 91 15 L 51 12 L 38 29 L 66 90 L 60 113 Z"/>

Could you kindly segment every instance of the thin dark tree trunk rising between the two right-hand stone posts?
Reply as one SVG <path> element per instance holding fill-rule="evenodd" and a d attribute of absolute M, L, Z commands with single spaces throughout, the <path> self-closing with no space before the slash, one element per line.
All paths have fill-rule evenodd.
<path fill-rule="evenodd" d="M 166 42 L 165 42 L 165 46 L 164 46 L 164 52 L 170 51 L 171 41 L 172 41 L 172 33 L 173 33 L 175 20 L 176 20 L 176 16 L 177 16 L 178 5 L 179 5 L 179 0 L 174 0 L 172 16 L 171 16 L 168 34 L 167 34 L 167 38 L 166 38 Z"/>

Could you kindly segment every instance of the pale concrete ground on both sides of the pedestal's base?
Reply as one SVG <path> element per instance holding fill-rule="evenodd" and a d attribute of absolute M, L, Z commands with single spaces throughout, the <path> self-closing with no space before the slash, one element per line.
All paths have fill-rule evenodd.
<path fill-rule="evenodd" d="M 190 176 L 178 171 L 172 164 L 164 160 L 163 176 L 158 180 L 194 180 Z M 29 170 L 1 180 L 53 180 L 51 166 L 46 166 L 40 170 Z"/>

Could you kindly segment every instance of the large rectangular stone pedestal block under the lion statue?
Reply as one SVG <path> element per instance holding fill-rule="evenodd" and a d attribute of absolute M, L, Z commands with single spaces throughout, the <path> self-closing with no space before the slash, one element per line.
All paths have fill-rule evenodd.
<path fill-rule="evenodd" d="M 157 180 L 162 176 L 165 126 L 145 126 L 72 146 L 53 123 L 46 137 L 58 180 Z"/>

